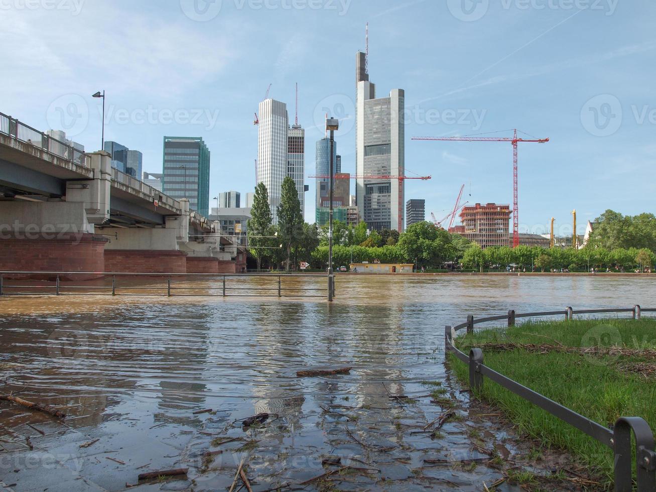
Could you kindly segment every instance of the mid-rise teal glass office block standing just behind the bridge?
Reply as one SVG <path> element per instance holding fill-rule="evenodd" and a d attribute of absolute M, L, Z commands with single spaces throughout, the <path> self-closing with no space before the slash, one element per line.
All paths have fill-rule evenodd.
<path fill-rule="evenodd" d="M 201 137 L 164 137 L 163 192 L 209 215 L 210 152 Z"/>

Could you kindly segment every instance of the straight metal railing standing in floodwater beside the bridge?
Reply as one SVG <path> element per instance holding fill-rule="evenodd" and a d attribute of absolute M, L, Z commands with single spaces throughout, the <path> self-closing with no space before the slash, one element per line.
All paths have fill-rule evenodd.
<path fill-rule="evenodd" d="M 21 277 L 48 277 L 25 279 Z M 84 285 L 74 285 L 67 280 L 74 276 L 91 277 L 79 280 Z M 13 277 L 13 279 L 12 279 Z M 19 277 L 16 279 L 16 277 Z M 128 285 L 121 279 L 156 279 L 155 285 Z M 333 276 L 334 277 L 334 276 Z M 266 279 L 267 284 L 249 286 L 246 278 Z M 312 278 L 316 275 L 297 274 L 151 274 L 108 272 L 0 272 L 0 296 L 24 295 L 76 295 L 76 296 L 123 296 L 123 297 L 321 297 L 328 295 L 325 287 L 290 285 L 291 279 Z M 184 282 L 206 280 L 208 285 L 190 286 Z M 236 280 L 236 281 L 235 281 Z M 22 283 L 15 283 L 16 281 Z M 35 283 L 30 283 L 33 281 Z M 176 281 L 178 281 L 176 285 Z M 234 281 L 234 282 L 231 282 Z M 96 285 L 102 283 L 102 285 Z M 214 285 L 218 283 L 218 285 Z M 22 289 L 22 290 L 21 290 Z M 136 291 L 136 293 L 134 292 Z M 179 293 L 178 293 L 179 292 Z M 310 293 L 310 294 L 308 294 Z M 323 293 L 323 294 L 320 294 Z M 333 281 L 333 296 L 335 283 Z"/>

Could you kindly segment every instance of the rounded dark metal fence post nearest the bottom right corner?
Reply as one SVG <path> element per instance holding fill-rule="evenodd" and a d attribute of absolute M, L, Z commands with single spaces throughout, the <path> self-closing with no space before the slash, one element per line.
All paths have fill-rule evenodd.
<path fill-rule="evenodd" d="M 615 451 L 615 492 L 632 491 L 631 430 L 636 436 L 636 478 L 638 492 L 656 489 L 656 453 L 649 424 L 640 417 L 621 417 L 613 428 Z"/>

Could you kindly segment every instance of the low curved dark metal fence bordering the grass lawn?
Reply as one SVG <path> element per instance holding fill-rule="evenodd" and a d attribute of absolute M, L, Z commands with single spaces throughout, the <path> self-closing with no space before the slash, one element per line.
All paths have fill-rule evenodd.
<path fill-rule="evenodd" d="M 467 333 L 474 333 L 474 326 L 490 321 L 508 321 L 508 327 L 512 327 L 518 318 L 539 318 L 543 316 L 565 316 L 565 320 L 573 319 L 575 314 L 608 314 L 608 313 L 632 313 L 633 319 L 640 319 L 644 312 L 656 312 L 656 309 L 643 309 L 640 306 L 625 309 L 597 309 L 597 310 L 573 310 L 568 307 L 563 311 L 549 311 L 517 314 L 514 310 L 508 311 L 505 316 L 490 316 L 488 318 L 475 319 L 468 316 L 465 323 L 455 327 L 445 327 L 445 352 L 450 352 L 457 359 L 469 366 L 469 384 L 474 392 L 480 392 L 483 388 L 483 378 L 487 377 L 506 390 L 520 396 L 524 400 L 537 405 L 554 417 L 581 430 L 594 440 L 609 447 L 615 453 L 615 491 L 631 492 L 633 489 L 632 478 L 632 453 L 631 432 L 636 441 L 636 478 L 639 492 L 656 491 L 656 453 L 654 451 L 654 436 L 649 424 L 640 417 L 621 417 L 615 422 L 612 429 L 606 428 L 594 420 L 583 417 L 583 415 L 546 398 L 526 386 L 512 380 L 501 373 L 487 367 L 483 363 L 483 350 L 472 348 L 469 355 L 464 354 L 455 347 L 454 338 L 458 331 L 466 329 Z"/>

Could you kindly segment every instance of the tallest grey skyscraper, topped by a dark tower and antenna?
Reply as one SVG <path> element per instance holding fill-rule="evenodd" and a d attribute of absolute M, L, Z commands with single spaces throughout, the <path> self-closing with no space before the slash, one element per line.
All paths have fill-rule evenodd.
<path fill-rule="evenodd" d="M 376 98 L 376 87 L 365 70 L 366 55 L 356 58 L 356 174 L 403 176 L 405 171 L 405 92 L 394 89 L 389 97 Z M 396 179 L 356 182 L 358 210 L 375 230 L 402 232 L 405 184 Z"/>

